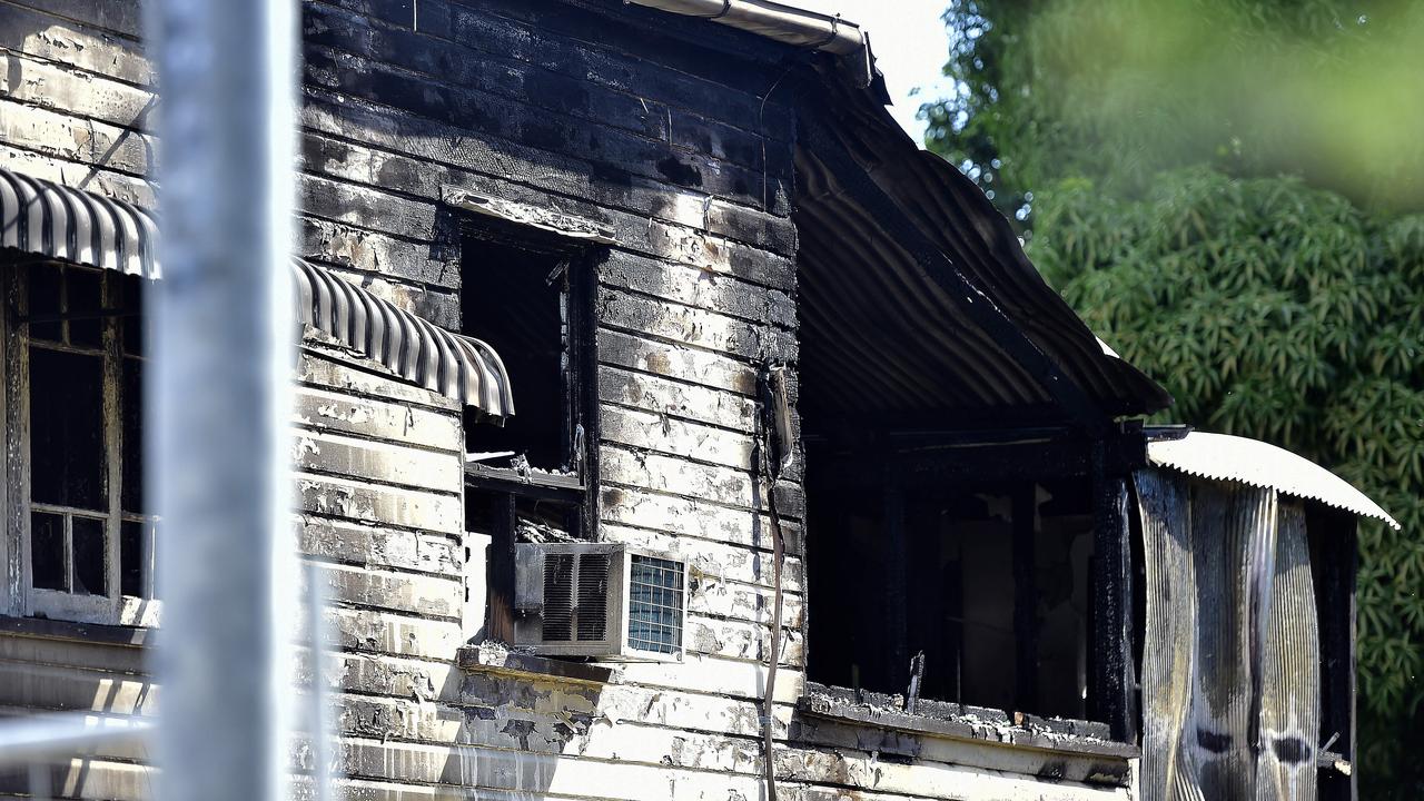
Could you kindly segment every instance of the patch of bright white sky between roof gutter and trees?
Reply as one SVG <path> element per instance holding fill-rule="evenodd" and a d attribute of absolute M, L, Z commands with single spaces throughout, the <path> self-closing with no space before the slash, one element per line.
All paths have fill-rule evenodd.
<path fill-rule="evenodd" d="M 790 0 L 823 14 L 839 13 L 870 33 L 870 50 L 886 76 L 894 105 L 890 113 L 917 143 L 924 123 L 914 118 L 920 104 L 948 94 L 941 68 L 950 41 L 940 16 L 947 0 Z M 911 97 L 911 91 L 920 93 Z"/>

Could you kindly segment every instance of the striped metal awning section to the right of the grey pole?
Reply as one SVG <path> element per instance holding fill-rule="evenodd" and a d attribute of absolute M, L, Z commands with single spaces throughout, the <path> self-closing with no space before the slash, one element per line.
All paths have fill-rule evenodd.
<path fill-rule="evenodd" d="M 484 342 L 446 331 L 330 271 L 292 259 L 300 321 L 392 372 L 493 416 L 514 413 L 504 362 Z"/>

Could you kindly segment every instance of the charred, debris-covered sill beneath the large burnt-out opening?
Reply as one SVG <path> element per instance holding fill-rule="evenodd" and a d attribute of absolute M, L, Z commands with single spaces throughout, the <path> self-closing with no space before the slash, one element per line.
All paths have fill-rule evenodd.
<path fill-rule="evenodd" d="M 813 683 L 806 686 L 806 694 L 796 701 L 796 708 L 807 717 L 853 725 L 1112 760 L 1124 765 L 1124 774 L 1126 760 L 1142 755 L 1136 745 L 1109 740 L 1106 727 L 1101 723 L 1032 715 L 1011 721 L 997 710 L 963 707 L 964 711 L 960 711 L 960 704 L 928 700 L 921 700 L 916 711 L 907 713 L 897 697 L 862 693 L 857 698 L 852 690 Z"/>

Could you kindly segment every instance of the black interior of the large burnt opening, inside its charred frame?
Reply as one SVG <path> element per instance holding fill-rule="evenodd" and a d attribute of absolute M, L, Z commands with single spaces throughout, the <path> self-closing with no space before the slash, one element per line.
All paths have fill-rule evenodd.
<path fill-rule="evenodd" d="M 1087 477 L 850 486 L 810 453 L 810 680 L 904 694 L 923 653 L 924 698 L 1089 717 Z"/>

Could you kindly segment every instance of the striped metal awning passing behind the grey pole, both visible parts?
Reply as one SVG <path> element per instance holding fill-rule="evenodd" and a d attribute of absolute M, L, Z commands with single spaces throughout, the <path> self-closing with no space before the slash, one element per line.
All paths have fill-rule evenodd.
<path fill-rule="evenodd" d="M 0 248 L 159 278 L 158 224 L 132 204 L 0 168 Z M 292 261 L 298 316 L 396 375 L 494 418 L 514 413 L 493 348 L 422 319 L 345 278 Z"/>

